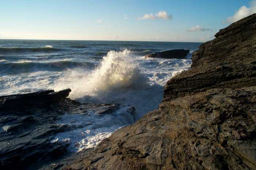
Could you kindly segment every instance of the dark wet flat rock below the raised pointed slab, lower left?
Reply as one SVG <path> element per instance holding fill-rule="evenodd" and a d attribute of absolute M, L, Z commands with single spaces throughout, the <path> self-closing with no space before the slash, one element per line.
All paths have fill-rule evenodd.
<path fill-rule="evenodd" d="M 104 116 L 122 107 L 118 104 L 80 103 L 65 98 L 41 107 L 0 110 L 0 169 L 60 169 L 68 162 L 79 160 L 87 150 L 81 154 L 71 153 L 68 151 L 70 140 L 53 139 L 57 133 L 84 128 L 92 122 L 77 126 L 60 124 L 61 117 L 64 114 L 89 116 L 87 112 Z"/>

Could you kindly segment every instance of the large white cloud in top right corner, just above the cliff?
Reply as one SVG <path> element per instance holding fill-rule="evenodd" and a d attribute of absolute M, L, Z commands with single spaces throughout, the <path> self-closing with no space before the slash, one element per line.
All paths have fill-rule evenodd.
<path fill-rule="evenodd" d="M 228 17 L 223 23 L 231 24 L 254 13 L 256 13 L 256 0 L 251 1 L 249 8 L 246 6 L 240 7 L 233 16 Z"/>

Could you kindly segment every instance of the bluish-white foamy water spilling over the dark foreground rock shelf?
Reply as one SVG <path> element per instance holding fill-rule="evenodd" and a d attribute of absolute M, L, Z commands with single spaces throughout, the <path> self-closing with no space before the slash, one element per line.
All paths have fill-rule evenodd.
<path fill-rule="evenodd" d="M 60 125 L 70 125 L 72 131 L 58 133 L 51 143 L 69 143 L 69 151 L 81 151 L 95 147 L 118 128 L 134 122 L 132 107 L 125 106 L 111 114 L 65 114 L 57 122 Z"/>

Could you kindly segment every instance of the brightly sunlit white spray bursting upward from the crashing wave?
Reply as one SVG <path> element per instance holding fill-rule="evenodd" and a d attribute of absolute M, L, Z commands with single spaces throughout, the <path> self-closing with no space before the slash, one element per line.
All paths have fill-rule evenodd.
<path fill-rule="evenodd" d="M 78 71 L 71 70 L 65 74 L 67 77 L 59 80 L 57 86 L 61 86 L 62 81 L 68 78 L 70 80 L 69 85 L 73 86 L 72 95 L 76 98 L 83 97 L 84 94 L 95 95 L 102 91 L 116 88 L 143 86 L 148 79 L 140 73 L 135 64 L 131 63 L 130 58 L 126 57 L 129 53 L 131 53 L 130 50 L 121 52 L 110 51 L 103 57 L 101 65 L 89 73 L 88 76 L 77 76 Z M 77 77 L 80 80 L 78 82 L 75 81 L 75 83 L 72 77 Z"/>

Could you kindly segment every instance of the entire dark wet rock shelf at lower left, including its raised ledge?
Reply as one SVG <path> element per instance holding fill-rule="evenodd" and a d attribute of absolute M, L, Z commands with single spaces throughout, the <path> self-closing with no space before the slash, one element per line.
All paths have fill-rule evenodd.
<path fill-rule="evenodd" d="M 114 119 L 118 116 L 116 113 L 124 107 L 130 108 L 131 113 L 128 114 L 133 119 L 132 112 L 135 108 L 132 106 L 80 103 L 65 98 L 70 91 L 45 90 L 0 97 L 1 170 L 60 169 L 68 162 L 84 156 L 91 148 L 84 152 L 71 152 L 70 147 L 79 148 L 83 144 L 72 143 L 69 138 L 54 140 L 57 134 L 90 126 L 104 126 L 103 119 L 110 115 Z M 99 119 L 90 120 L 92 113 Z M 61 121 L 65 116 L 74 119 L 67 124 Z M 89 121 L 79 122 L 76 117 L 87 117 Z M 127 117 L 124 115 L 124 118 Z M 134 119 L 130 123 L 132 122 Z"/>

